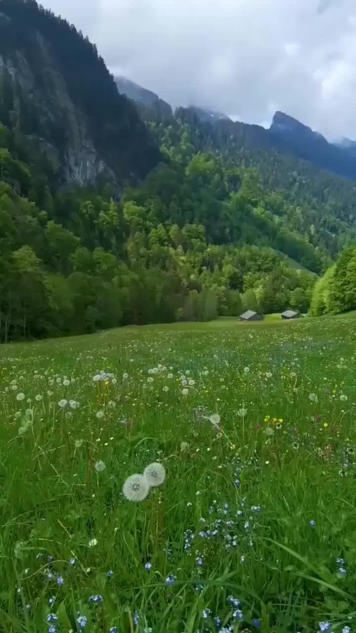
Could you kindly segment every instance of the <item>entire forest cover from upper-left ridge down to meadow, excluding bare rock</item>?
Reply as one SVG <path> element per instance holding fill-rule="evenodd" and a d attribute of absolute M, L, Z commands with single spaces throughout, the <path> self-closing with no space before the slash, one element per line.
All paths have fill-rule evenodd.
<path fill-rule="evenodd" d="M 70 139 L 61 144 L 64 128 L 48 127 L 53 95 L 43 87 L 46 116 L 35 99 L 28 110 L 29 94 L 19 97 L 21 82 L 3 67 L 0 342 L 249 308 L 308 311 L 318 277 L 320 285 L 355 237 L 351 182 L 308 163 L 298 172 L 295 158 L 224 137 L 188 110 L 164 121 L 146 110 L 145 124 L 114 96 L 103 60 L 74 27 L 34 0 L 0 6 L 13 35 L 31 24 L 51 42 L 70 103 L 108 166 L 85 186 L 63 180 Z M 33 74 L 40 60 L 28 37 L 20 49 Z M 10 40 L 1 47 L 15 59 Z M 41 80 L 42 69 L 35 91 Z"/>

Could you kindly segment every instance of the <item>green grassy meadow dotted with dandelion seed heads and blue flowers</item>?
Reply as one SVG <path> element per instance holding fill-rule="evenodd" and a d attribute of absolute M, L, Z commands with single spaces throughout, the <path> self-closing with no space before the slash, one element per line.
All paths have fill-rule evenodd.
<path fill-rule="evenodd" d="M 354 630 L 356 315 L 2 346 L 0 390 L 1 632 Z"/>

